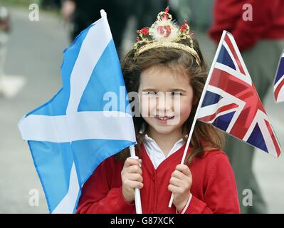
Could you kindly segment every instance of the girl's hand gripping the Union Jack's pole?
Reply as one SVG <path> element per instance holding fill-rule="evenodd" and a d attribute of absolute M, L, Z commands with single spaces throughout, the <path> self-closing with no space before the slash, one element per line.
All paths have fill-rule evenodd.
<path fill-rule="evenodd" d="M 169 180 L 168 190 L 173 193 L 173 204 L 181 212 L 190 196 L 192 176 L 189 167 L 184 164 L 177 165 Z"/>

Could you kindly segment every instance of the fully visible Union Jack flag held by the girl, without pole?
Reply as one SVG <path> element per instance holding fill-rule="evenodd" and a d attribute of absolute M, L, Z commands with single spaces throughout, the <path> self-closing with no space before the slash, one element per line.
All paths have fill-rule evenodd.
<path fill-rule="evenodd" d="M 197 119 L 253 147 L 280 155 L 280 145 L 251 81 L 236 41 L 223 31 Z"/>

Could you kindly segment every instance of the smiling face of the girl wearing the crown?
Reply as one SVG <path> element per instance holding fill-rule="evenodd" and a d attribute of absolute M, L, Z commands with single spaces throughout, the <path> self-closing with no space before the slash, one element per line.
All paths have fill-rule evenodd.
<path fill-rule="evenodd" d="M 140 113 L 149 128 L 160 134 L 181 130 L 189 118 L 193 89 L 186 73 L 153 66 L 140 78 Z"/>

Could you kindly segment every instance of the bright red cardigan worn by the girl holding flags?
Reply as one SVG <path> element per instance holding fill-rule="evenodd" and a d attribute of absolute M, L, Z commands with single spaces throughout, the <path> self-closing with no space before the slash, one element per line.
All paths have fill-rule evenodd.
<path fill-rule="evenodd" d="M 144 214 L 176 213 L 169 208 L 169 178 L 181 162 L 185 144 L 167 157 L 157 170 L 142 145 L 141 191 Z M 190 152 L 190 149 L 189 151 Z M 122 195 L 123 162 L 109 157 L 103 161 L 83 186 L 77 213 L 135 213 L 135 204 L 128 204 Z M 238 194 L 233 170 L 226 154 L 220 150 L 206 152 L 189 166 L 192 174 L 192 198 L 185 213 L 239 213 Z"/>

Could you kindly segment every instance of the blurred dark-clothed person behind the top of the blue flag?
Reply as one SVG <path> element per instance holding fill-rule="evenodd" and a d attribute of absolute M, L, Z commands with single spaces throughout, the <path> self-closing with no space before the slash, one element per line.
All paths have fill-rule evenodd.
<path fill-rule="evenodd" d="M 121 52 L 127 20 L 133 16 L 136 28 L 141 29 L 151 24 L 156 19 L 155 15 L 162 11 L 167 4 L 168 0 L 65 0 L 61 13 L 64 21 L 73 23 L 70 35 L 74 39 L 80 31 L 100 19 L 100 9 L 105 9 L 115 46 L 117 51 Z"/>

